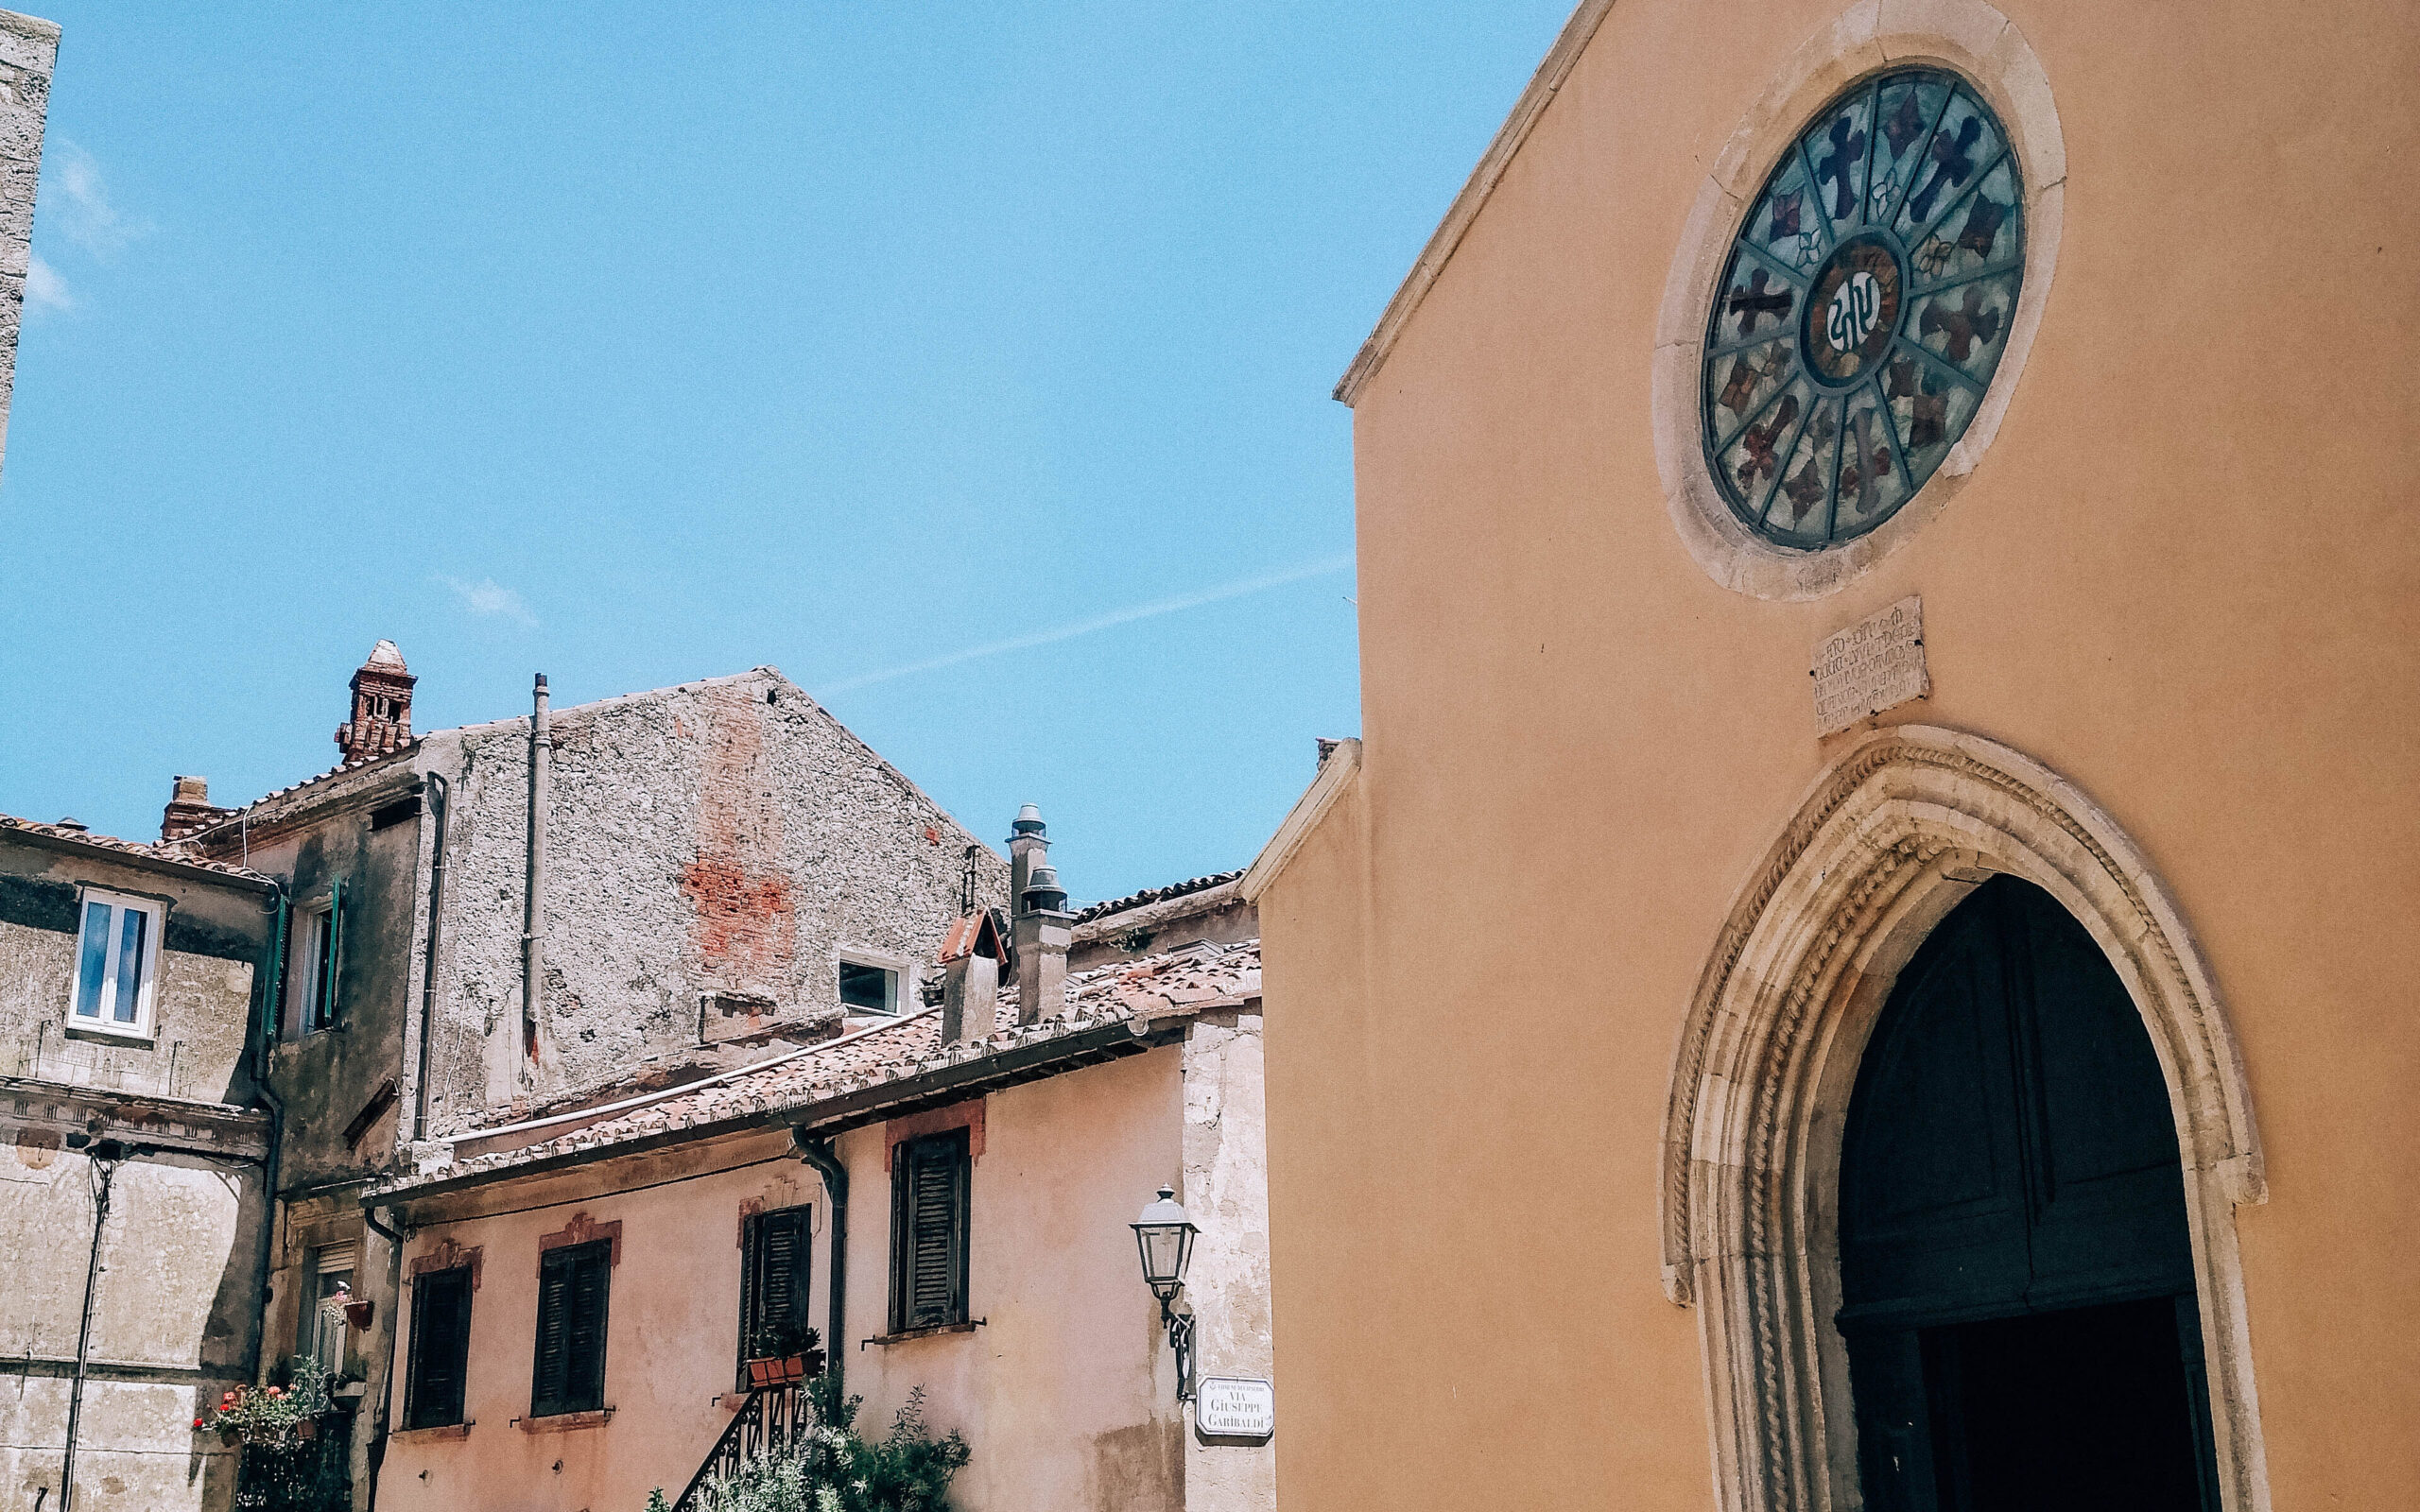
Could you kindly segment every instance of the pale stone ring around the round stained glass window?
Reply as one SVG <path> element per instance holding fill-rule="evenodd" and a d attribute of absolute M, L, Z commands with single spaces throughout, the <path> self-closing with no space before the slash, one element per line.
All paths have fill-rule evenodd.
<path fill-rule="evenodd" d="M 1963 75 L 2006 128 L 2026 186 L 2023 285 L 1992 385 L 1938 472 L 1873 532 L 1817 552 L 1791 552 L 1740 525 L 1706 472 L 1699 438 L 1706 317 L 1733 237 L 1779 155 L 1825 102 L 1861 77 L 1905 63 L 1931 63 Z M 1784 63 L 1699 184 L 1655 322 L 1648 406 L 1655 472 L 1663 477 L 1672 530 L 1709 578 L 1750 598 L 1822 598 L 1866 576 L 1948 508 L 1999 433 L 2042 324 L 2059 256 L 2064 184 L 2067 140 L 2042 63 L 2023 31 L 1984 0 L 1859 0 Z"/>

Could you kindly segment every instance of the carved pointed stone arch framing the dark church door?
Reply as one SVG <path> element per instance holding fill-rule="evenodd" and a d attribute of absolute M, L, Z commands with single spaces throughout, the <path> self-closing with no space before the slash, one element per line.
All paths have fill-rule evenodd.
<path fill-rule="evenodd" d="M 1699 1311 L 1725 1512 L 1851 1512 L 1839 1149 L 1900 968 L 1992 873 L 2059 900 L 2159 1050 L 2185 1166 L 2222 1502 L 2268 1510 L 2234 1207 L 2265 1200 L 2243 1064 L 2190 931 L 2091 798 L 1977 735 L 1878 731 L 1742 888 L 1682 1028 L 1665 1113 L 1665 1294 Z"/>

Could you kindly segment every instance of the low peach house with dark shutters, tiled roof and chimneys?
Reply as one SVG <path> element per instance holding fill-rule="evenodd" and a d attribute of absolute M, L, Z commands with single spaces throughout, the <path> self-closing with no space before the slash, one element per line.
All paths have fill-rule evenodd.
<path fill-rule="evenodd" d="M 871 1437 L 917 1389 L 966 1435 L 953 1507 L 1266 1512 L 1268 1439 L 1193 1432 L 1130 1231 L 1181 1193 L 1195 1374 L 1270 1379 L 1254 914 L 1232 873 L 1070 912 L 1045 844 L 1028 808 L 1024 907 L 934 934 L 905 1016 L 460 1127 L 370 1188 L 409 1236 L 380 1505 L 678 1500 L 796 1420 L 743 1374 L 779 1316 Z"/>

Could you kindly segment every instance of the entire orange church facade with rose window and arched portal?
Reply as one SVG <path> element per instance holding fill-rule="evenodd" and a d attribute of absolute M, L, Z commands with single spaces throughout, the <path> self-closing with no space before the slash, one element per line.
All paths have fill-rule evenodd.
<path fill-rule="evenodd" d="M 1338 387 L 1287 1500 L 2420 1502 L 2415 63 L 1578 7 Z"/>

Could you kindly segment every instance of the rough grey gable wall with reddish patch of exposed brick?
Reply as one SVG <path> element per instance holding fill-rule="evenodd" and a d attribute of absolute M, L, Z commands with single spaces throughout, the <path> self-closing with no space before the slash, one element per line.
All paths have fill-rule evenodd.
<path fill-rule="evenodd" d="M 975 837 L 774 673 L 564 709 L 552 738 L 535 1072 L 518 1048 L 528 723 L 428 743 L 455 777 L 438 1130 L 692 1050 L 707 992 L 837 1023 L 842 948 L 927 960 L 958 912 Z M 1002 900 L 1007 864 L 980 849 L 978 868 Z"/>

